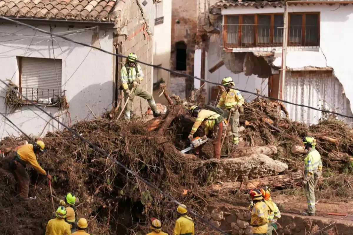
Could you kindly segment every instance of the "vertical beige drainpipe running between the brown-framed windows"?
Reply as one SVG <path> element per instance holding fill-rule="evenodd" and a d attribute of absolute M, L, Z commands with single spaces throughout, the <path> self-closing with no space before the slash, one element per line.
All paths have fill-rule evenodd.
<path fill-rule="evenodd" d="M 288 2 L 285 5 L 283 19 L 283 47 L 282 47 L 282 66 L 281 66 L 281 76 L 279 82 L 280 92 L 278 93 L 278 98 L 283 99 L 283 92 L 285 89 L 286 80 L 286 60 L 287 60 L 287 45 L 288 45 Z"/>

